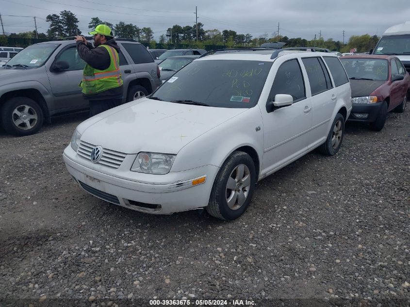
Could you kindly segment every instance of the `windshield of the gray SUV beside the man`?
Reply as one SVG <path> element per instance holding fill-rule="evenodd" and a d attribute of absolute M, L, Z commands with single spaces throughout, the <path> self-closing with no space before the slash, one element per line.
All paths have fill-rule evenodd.
<path fill-rule="evenodd" d="M 37 68 L 43 65 L 51 53 L 60 44 L 38 44 L 24 48 L 18 52 L 7 65 L 23 65 L 26 68 Z"/>

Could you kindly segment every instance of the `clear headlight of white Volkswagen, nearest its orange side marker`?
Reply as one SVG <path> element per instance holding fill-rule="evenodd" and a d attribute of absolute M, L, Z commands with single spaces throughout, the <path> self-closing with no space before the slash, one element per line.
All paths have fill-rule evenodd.
<path fill-rule="evenodd" d="M 131 166 L 131 171 L 157 175 L 168 174 L 174 159 L 175 155 L 140 152 Z"/>

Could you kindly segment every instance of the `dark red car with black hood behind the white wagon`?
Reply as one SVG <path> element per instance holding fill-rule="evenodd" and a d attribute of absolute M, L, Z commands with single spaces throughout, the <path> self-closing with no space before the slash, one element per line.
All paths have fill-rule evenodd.
<path fill-rule="evenodd" d="M 410 75 L 395 56 L 351 55 L 340 58 L 352 88 L 349 121 L 370 124 L 380 131 L 387 113 L 402 113 L 410 97 Z"/>

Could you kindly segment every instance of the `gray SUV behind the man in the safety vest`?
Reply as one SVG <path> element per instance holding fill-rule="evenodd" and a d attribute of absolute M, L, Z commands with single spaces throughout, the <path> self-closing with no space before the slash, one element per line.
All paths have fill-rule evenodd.
<path fill-rule="evenodd" d="M 124 81 L 123 102 L 152 93 L 160 84 L 160 70 L 140 43 L 117 40 Z M 85 62 L 74 41 L 34 44 L 0 69 L 0 121 L 10 134 L 37 132 L 51 116 L 88 108 L 79 83 Z"/>

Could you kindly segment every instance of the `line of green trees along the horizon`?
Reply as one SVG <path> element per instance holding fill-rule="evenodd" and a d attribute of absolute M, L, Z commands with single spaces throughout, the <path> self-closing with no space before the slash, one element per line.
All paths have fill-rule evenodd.
<path fill-rule="evenodd" d="M 8 36 L 35 38 L 37 34 L 38 38 L 55 40 L 82 34 L 79 28 L 79 20 L 70 11 L 64 10 L 59 15 L 50 14 L 46 17 L 46 20 L 49 22 L 47 33 L 36 33 L 34 30 L 31 32 L 11 33 Z M 94 30 L 98 24 L 109 26 L 115 37 L 134 39 L 146 45 L 148 44 L 152 48 L 156 46 L 157 42 L 154 40 L 154 32 L 150 27 L 139 28 L 136 25 L 126 24 L 123 21 L 114 25 L 101 20 L 99 17 L 92 17 L 88 24 L 88 29 Z M 300 37 L 289 38 L 281 35 L 269 35 L 268 33 L 253 37 L 249 33 L 237 33 L 233 30 L 204 30 L 204 25 L 198 22 L 197 26 L 174 25 L 168 28 L 164 34 L 160 35 L 158 43 L 195 45 L 198 48 L 204 48 L 205 45 L 233 48 L 259 47 L 267 42 L 283 42 L 286 43 L 285 47 L 321 47 L 340 52 L 349 52 L 350 49 L 357 48 L 357 52 L 366 52 L 374 48 L 378 40 L 379 37 L 377 35 L 370 36 L 369 34 L 353 35 L 346 44 L 343 44 L 341 41 L 335 41 L 332 38 L 325 40 L 322 37 L 320 39 L 306 40 Z"/>

